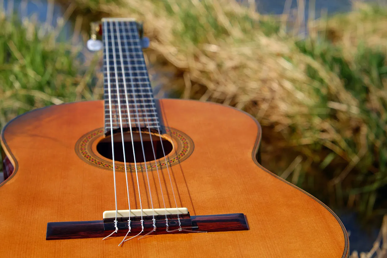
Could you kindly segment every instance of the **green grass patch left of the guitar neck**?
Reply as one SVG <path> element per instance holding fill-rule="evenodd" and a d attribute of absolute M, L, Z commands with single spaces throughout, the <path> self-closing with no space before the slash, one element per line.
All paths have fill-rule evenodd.
<path fill-rule="evenodd" d="M 98 98 L 90 84 L 94 66 L 84 68 L 79 47 L 58 42 L 61 28 L 43 29 L 3 12 L 0 27 L 1 127 L 33 108 Z"/>

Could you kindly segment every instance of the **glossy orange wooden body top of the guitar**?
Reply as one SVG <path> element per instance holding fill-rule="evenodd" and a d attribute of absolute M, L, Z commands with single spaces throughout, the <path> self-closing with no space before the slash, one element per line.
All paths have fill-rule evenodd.
<path fill-rule="evenodd" d="M 261 129 L 255 119 L 215 103 L 159 103 L 164 125 L 175 132 L 165 135 L 173 142 L 169 157 L 182 153 L 170 167 L 177 205 L 191 216 L 244 213 L 249 230 L 149 235 L 122 247 L 122 237 L 46 240 L 48 222 L 101 220 L 105 210 L 115 209 L 113 171 L 87 160 L 78 146 L 100 137 L 103 127 L 103 101 L 85 101 L 34 110 L 3 129 L 3 151 L 15 170 L 0 184 L 0 257 L 348 256 L 339 218 L 258 164 Z M 95 146 L 86 151 L 95 152 Z M 165 168 L 161 174 L 167 187 Z M 140 209 L 135 173 L 128 178 L 132 208 Z M 150 208 L 144 172 L 139 179 L 142 208 Z M 125 173 L 117 171 L 116 181 L 118 209 L 127 209 Z M 155 171 L 149 181 L 153 205 L 163 207 Z M 173 207 L 170 190 L 164 197 Z"/>

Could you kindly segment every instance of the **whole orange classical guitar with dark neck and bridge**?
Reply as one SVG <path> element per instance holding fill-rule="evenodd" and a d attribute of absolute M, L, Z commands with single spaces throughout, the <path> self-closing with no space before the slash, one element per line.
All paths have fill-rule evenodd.
<path fill-rule="evenodd" d="M 347 257 L 334 212 L 259 165 L 252 116 L 154 98 L 140 28 L 96 28 L 103 101 L 3 128 L 0 257 Z"/>

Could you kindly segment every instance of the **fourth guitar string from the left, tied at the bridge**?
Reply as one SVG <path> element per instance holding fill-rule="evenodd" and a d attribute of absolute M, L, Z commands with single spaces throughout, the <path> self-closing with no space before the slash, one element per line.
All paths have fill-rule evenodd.
<path fill-rule="evenodd" d="M 127 23 L 127 24 L 130 24 L 129 22 Z M 126 29 L 128 29 L 128 31 L 127 31 L 127 34 L 125 35 L 125 37 L 128 37 L 128 35 L 129 35 L 129 37 L 128 37 L 128 39 L 130 40 L 130 42 L 133 42 L 133 43 L 135 43 L 135 38 L 130 38 L 130 35 L 132 35 L 131 34 L 131 31 L 130 31 L 130 27 L 129 28 L 127 28 L 126 26 L 125 26 L 125 24 L 123 24 L 123 28 L 124 28 L 124 30 L 126 30 Z M 126 31 L 125 31 L 126 32 Z M 130 60 L 129 59 L 129 48 L 128 48 L 128 44 L 127 44 L 127 38 L 125 38 L 126 40 L 125 40 L 125 47 L 127 48 L 127 57 L 128 57 L 128 60 Z M 137 42 L 138 43 L 138 42 Z M 132 48 L 132 50 L 133 50 L 133 47 L 131 46 L 131 48 Z M 130 62 L 130 61 L 129 61 Z M 129 71 L 130 71 L 130 77 L 132 77 L 132 69 L 130 68 L 130 66 L 128 66 L 128 69 L 129 69 Z M 136 72 L 136 71 L 135 71 Z M 125 77 L 125 74 L 123 74 L 123 77 Z M 153 230 L 151 231 L 151 232 L 154 232 L 154 231 L 156 231 L 156 220 L 155 220 L 155 218 L 154 218 L 154 207 L 153 207 L 153 200 L 152 200 L 152 192 L 151 192 L 151 184 L 149 183 L 149 175 L 148 175 L 148 168 L 147 168 L 147 163 L 146 163 L 146 157 L 145 157 L 145 150 L 144 150 L 144 142 L 143 142 L 143 140 L 142 140 L 142 132 L 141 132 L 141 126 L 140 126 L 140 118 L 139 118 L 139 108 L 137 107 L 137 101 L 136 101 L 136 97 L 135 97 L 135 88 L 134 88 L 134 84 L 135 84 L 135 82 L 134 81 L 132 81 L 132 79 L 131 79 L 131 86 L 132 86 L 132 94 L 133 94 L 133 100 L 134 100 L 134 106 L 135 106 L 135 112 L 136 112 L 136 116 L 137 116 L 137 126 L 138 126 L 138 129 L 139 129 L 139 134 L 140 134 L 140 143 L 141 143 L 141 148 L 142 148 L 142 155 L 143 155 L 143 158 L 144 158 L 144 167 L 145 167 L 145 173 L 146 173 L 146 178 L 147 178 L 147 183 L 148 183 L 148 190 L 149 190 L 149 198 L 151 198 L 151 207 L 152 207 L 152 222 L 153 222 Z M 150 234 L 150 232 L 148 233 L 148 234 Z M 148 234 L 146 234 L 146 235 L 148 235 Z M 127 240 L 130 240 L 130 239 L 127 239 Z M 124 241 L 127 241 L 127 240 L 124 240 Z"/>

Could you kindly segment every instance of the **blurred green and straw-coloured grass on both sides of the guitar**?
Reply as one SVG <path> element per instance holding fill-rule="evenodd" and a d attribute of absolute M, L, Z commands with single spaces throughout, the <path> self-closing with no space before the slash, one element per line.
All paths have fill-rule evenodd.
<path fill-rule="evenodd" d="M 58 2 L 95 20 L 144 21 L 147 62 L 169 74 L 164 91 L 247 111 L 263 126 L 265 167 L 330 206 L 386 212 L 387 8 L 354 3 L 305 21 L 303 10 L 290 19 L 232 0 Z M 85 51 L 56 40 L 60 28 L 0 18 L 1 126 L 33 108 L 100 98 L 101 55 L 79 58 Z"/>

